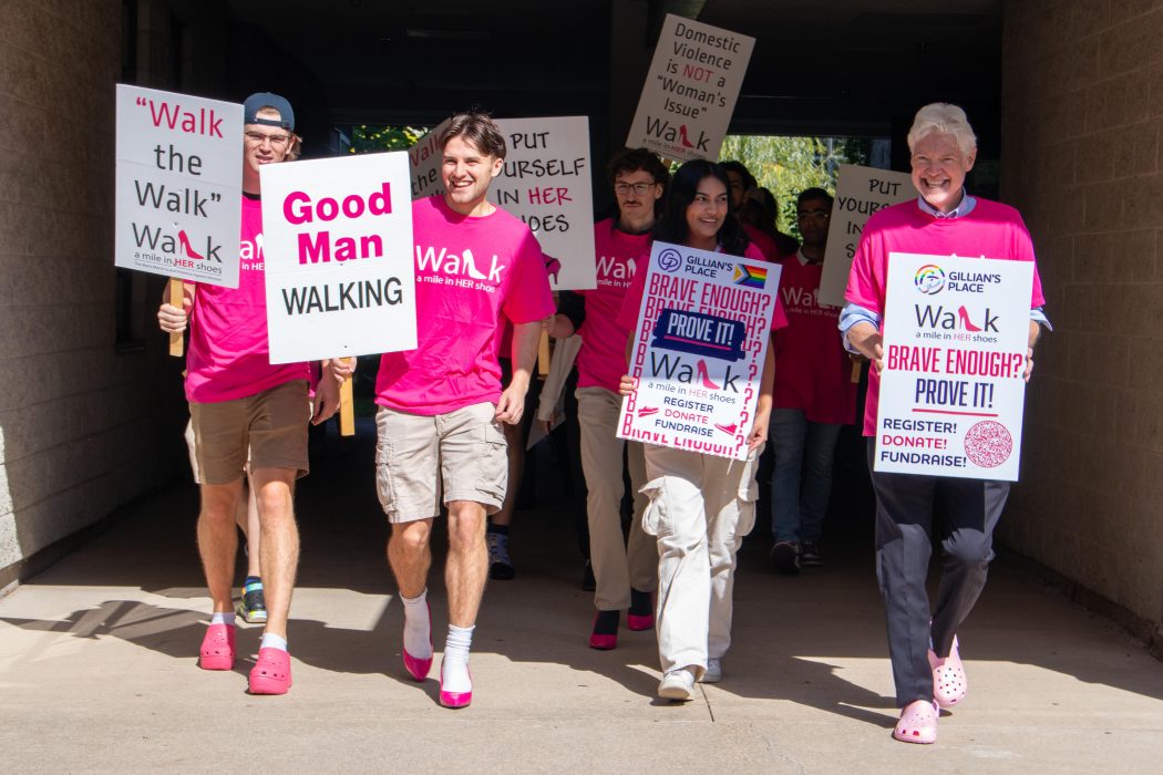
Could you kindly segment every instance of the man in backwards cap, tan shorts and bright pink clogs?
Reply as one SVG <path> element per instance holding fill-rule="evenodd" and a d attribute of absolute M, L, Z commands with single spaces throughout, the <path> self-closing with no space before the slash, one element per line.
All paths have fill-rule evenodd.
<path fill-rule="evenodd" d="M 183 308 L 162 304 L 157 317 L 171 333 L 190 325 L 186 400 L 201 475 L 198 551 L 214 607 L 198 663 L 206 670 L 234 667 L 234 514 L 249 452 L 267 608 L 250 693 L 280 695 L 291 688 L 287 616 L 299 562 L 294 481 L 307 473 L 307 423 L 335 414 L 338 388 L 322 380 L 312 403 L 307 364 L 270 363 L 259 170 L 298 158 L 301 138 L 291 103 L 278 94 L 251 94 L 243 107 L 238 287 L 187 284 Z"/>

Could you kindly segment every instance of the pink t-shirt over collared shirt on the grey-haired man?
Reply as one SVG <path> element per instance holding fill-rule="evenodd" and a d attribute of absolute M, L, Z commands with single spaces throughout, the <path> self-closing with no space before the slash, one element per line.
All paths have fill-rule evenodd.
<path fill-rule="evenodd" d="M 978 198 L 969 215 L 936 218 L 925 213 L 915 200 L 901 202 L 878 210 L 864 225 L 844 299 L 884 315 L 889 253 L 892 252 L 1034 260 L 1034 244 L 1026 223 L 1008 204 Z M 1035 265 L 1030 308 L 1044 303 L 1042 281 Z M 869 393 L 864 403 L 864 436 L 876 433 L 879 395 L 880 375 L 872 368 L 869 371 Z"/>

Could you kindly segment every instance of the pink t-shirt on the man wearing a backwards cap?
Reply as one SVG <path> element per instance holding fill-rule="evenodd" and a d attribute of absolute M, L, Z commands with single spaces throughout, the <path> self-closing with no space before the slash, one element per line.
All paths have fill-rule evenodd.
<path fill-rule="evenodd" d="M 270 363 L 263 206 L 242 198 L 238 287 L 199 284 L 190 316 L 186 400 L 216 403 L 257 395 L 284 382 L 309 379 L 307 364 Z"/>

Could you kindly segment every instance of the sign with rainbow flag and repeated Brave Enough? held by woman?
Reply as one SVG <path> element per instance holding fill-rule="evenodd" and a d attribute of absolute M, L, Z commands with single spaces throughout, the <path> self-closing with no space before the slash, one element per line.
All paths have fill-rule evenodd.
<path fill-rule="evenodd" d="M 618 437 L 745 459 L 780 267 L 656 242 L 647 272 Z"/>

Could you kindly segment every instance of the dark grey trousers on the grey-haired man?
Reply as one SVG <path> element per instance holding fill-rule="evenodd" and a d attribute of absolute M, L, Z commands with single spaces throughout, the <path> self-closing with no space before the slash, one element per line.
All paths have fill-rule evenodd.
<path fill-rule="evenodd" d="M 869 471 L 876 439 L 868 440 Z M 876 572 L 889 625 L 889 655 L 897 703 L 933 699 L 933 650 L 948 655 L 957 627 L 985 587 L 1009 482 L 872 472 L 876 493 Z M 932 554 L 933 511 L 942 507 L 943 573 L 935 609 L 926 577 Z"/>

